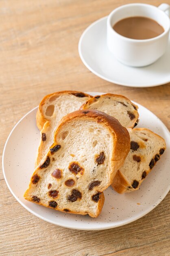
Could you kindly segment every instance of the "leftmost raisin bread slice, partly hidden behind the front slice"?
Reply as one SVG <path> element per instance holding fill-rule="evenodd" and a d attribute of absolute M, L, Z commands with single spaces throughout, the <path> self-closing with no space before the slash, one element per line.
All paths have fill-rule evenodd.
<path fill-rule="evenodd" d="M 37 152 L 35 166 L 46 155 L 53 143 L 54 131 L 62 117 L 78 110 L 83 102 L 87 101 L 89 94 L 77 91 L 54 92 L 44 97 L 37 111 L 37 126 L 41 130 L 41 139 Z"/>

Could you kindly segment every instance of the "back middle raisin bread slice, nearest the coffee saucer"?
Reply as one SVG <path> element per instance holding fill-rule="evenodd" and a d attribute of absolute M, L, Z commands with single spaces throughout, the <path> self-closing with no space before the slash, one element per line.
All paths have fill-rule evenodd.
<path fill-rule="evenodd" d="M 95 96 L 81 106 L 80 109 L 96 109 L 118 119 L 124 127 L 133 128 L 138 123 L 138 106 L 122 95 L 103 94 Z"/>

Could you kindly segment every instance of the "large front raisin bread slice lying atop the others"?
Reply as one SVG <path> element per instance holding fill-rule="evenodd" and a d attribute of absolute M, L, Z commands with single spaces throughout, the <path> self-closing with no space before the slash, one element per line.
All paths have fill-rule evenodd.
<path fill-rule="evenodd" d="M 129 132 L 117 119 L 94 110 L 72 112 L 59 124 L 24 198 L 97 217 L 104 203 L 102 191 L 113 182 L 129 150 Z"/>

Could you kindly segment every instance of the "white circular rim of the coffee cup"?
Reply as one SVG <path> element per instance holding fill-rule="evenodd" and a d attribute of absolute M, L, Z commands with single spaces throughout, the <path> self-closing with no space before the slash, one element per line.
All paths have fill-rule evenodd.
<path fill-rule="evenodd" d="M 158 9 L 159 11 L 161 11 L 162 13 L 164 13 L 164 14 L 167 16 L 167 18 L 169 18 L 168 15 L 167 15 L 164 11 L 162 11 L 161 9 L 159 9 L 158 7 L 156 7 L 156 6 L 152 5 L 152 4 L 131 3 L 131 4 L 124 4 L 124 5 L 121 5 L 120 7 L 117 7 L 116 9 L 114 9 L 113 11 L 111 11 L 111 13 L 109 14 L 109 16 L 108 16 L 108 18 L 107 18 L 107 26 L 109 25 L 109 27 L 112 29 L 113 33 L 115 33 L 117 36 L 119 36 L 120 38 L 122 38 L 122 39 L 124 39 L 124 40 L 127 40 L 127 41 L 129 41 L 129 42 L 135 42 L 135 43 L 138 42 L 138 43 L 141 43 L 141 42 L 148 42 L 148 41 L 157 40 L 157 39 L 163 37 L 165 34 L 167 34 L 167 33 L 169 32 L 169 30 L 170 30 L 170 18 L 169 18 L 169 26 L 168 26 L 168 28 L 167 28 L 166 30 L 164 30 L 163 33 L 160 34 L 159 36 L 155 36 L 155 37 L 153 37 L 153 38 L 148 38 L 148 39 L 133 39 L 133 38 L 128 38 L 128 37 L 126 37 L 126 36 L 120 35 L 120 34 L 119 34 L 118 32 L 116 32 L 116 31 L 113 29 L 113 27 L 111 26 L 111 18 L 113 17 L 114 13 L 116 13 L 116 11 L 118 11 L 119 9 L 123 9 L 123 8 L 126 7 L 126 6 L 132 6 L 132 5 L 133 5 L 133 6 L 134 6 L 134 5 L 145 6 L 145 7 L 150 6 L 150 7 L 153 7 L 153 9 L 156 8 L 156 9 Z"/>

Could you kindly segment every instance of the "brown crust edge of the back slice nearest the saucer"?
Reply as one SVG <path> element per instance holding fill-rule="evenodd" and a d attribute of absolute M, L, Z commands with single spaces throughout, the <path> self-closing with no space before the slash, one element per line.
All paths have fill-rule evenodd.
<path fill-rule="evenodd" d="M 132 103 L 130 101 L 130 99 L 126 98 L 123 95 L 119 95 L 119 94 L 112 94 L 112 93 L 106 93 L 106 94 L 102 94 L 102 95 L 96 95 L 94 97 L 92 97 L 91 99 L 87 100 L 85 103 L 83 103 L 83 105 L 80 107 L 80 110 L 85 110 L 88 109 L 88 107 L 94 103 L 95 101 L 98 101 L 98 99 L 96 99 L 96 97 L 100 97 L 100 98 L 105 98 L 106 96 L 110 96 L 110 97 L 120 97 L 123 99 L 126 99 L 126 101 L 128 101 L 133 107 L 134 107 L 134 111 L 135 111 L 135 118 L 133 121 L 132 126 L 130 126 L 129 128 L 133 128 L 135 126 L 135 124 L 138 123 L 138 118 L 139 118 L 139 113 L 137 112 L 138 106 L 135 105 L 134 103 Z"/>

